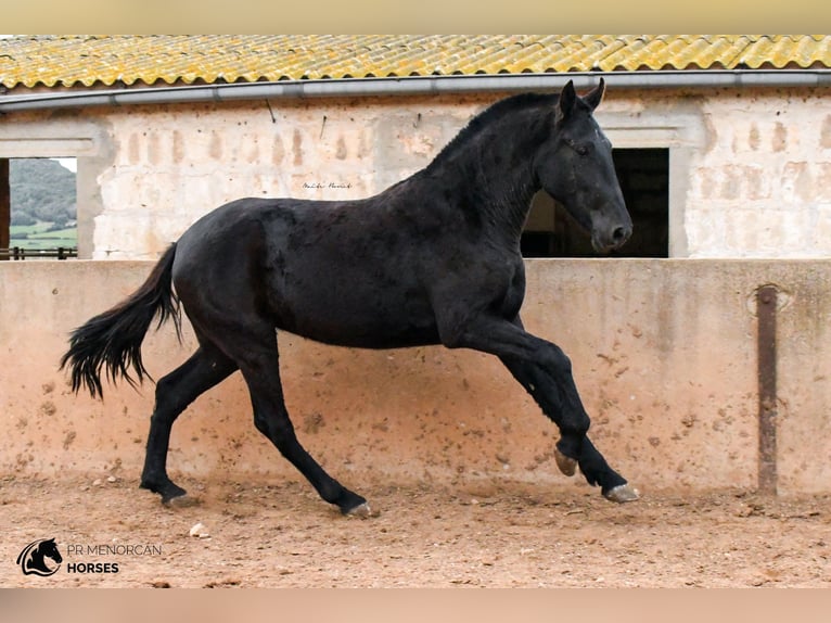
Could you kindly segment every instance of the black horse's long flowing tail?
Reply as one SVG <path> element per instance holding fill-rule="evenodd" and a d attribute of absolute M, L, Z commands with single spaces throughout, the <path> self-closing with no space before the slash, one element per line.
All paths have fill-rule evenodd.
<path fill-rule="evenodd" d="M 93 398 L 103 397 L 103 367 L 106 367 L 106 376 L 113 383 L 122 377 L 133 387 L 137 382 L 130 376 L 130 367 L 136 370 L 139 383 L 145 374 L 150 377 L 141 360 L 141 342 L 156 314 L 156 328 L 172 318 L 177 338 L 181 341 L 179 300 L 172 291 L 175 255 L 174 243 L 141 288 L 112 309 L 91 318 L 72 332 L 69 349 L 61 358 L 61 369 L 68 364 L 73 392 L 78 393 L 86 385 Z"/>

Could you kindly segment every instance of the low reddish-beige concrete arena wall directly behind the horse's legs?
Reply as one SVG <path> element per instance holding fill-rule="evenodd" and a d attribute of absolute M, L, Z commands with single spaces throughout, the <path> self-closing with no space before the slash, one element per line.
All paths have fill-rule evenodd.
<path fill-rule="evenodd" d="M 107 387 L 103 402 L 75 396 L 57 361 L 68 332 L 132 292 L 150 267 L 0 265 L 2 473 L 114 472 L 138 484 L 153 385 Z M 530 260 L 523 318 L 571 357 L 592 440 L 642 493 L 828 493 L 830 270 L 829 260 Z M 772 333 L 757 307 L 770 285 Z M 298 436 L 347 485 L 371 475 L 565 482 L 554 425 L 488 356 L 354 351 L 285 333 L 281 346 Z M 170 326 L 149 335 L 144 360 L 158 378 L 193 347 L 187 327 L 180 346 Z M 771 366 L 772 390 L 762 378 Z M 298 478 L 255 430 L 239 374 L 177 422 L 169 469 Z"/>

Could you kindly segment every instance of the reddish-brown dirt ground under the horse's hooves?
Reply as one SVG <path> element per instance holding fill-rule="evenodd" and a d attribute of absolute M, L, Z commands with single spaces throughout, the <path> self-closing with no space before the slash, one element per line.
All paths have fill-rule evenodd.
<path fill-rule="evenodd" d="M 126 476 L 0 480 L 0 585 L 831 587 L 831 496 L 650 492 L 618 506 L 574 481 L 367 482 L 375 516 L 355 519 L 305 481 L 181 484 L 195 503 L 166 508 Z M 17 555 L 50 537 L 57 572 L 24 575 Z"/>

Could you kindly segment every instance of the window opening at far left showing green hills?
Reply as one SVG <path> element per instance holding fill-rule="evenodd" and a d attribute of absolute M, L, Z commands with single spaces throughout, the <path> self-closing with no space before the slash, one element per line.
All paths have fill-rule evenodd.
<path fill-rule="evenodd" d="M 0 257 L 77 257 L 77 161 L 0 158 Z M 5 186 L 8 198 L 2 189 Z M 5 223 L 2 223 L 5 220 Z M 5 243 L 5 244 L 3 244 Z"/>

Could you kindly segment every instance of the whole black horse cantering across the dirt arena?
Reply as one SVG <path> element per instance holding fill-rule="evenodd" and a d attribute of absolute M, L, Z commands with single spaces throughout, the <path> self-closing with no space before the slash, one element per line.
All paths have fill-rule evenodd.
<path fill-rule="evenodd" d="M 298 443 L 283 402 L 276 328 L 341 346 L 444 344 L 499 357 L 560 429 L 557 462 L 577 466 L 615 501 L 637 492 L 586 435 L 571 363 L 520 320 L 520 236 L 540 188 L 590 232 L 598 252 L 631 233 L 612 145 L 584 98 L 520 94 L 475 116 L 424 169 L 358 201 L 242 199 L 208 213 L 163 255 L 127 300 L 76 329 L 61 367 L 73 390 L 102 394 L 101 372 L 136 382 L 153 318 L 179 330 L 179 304 L 199 349 L 156 385 L 141 486 L 163 501 L 184 495 L 167 475 L 170 429 L 200 394 L 235 370 L 254 423 L 320 496 L 366 514 L 363 497 L 331 478 Z M 172 293 L 171 283 L 176 288 Z"/>

